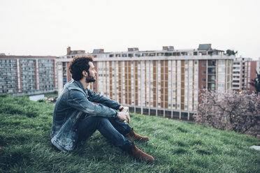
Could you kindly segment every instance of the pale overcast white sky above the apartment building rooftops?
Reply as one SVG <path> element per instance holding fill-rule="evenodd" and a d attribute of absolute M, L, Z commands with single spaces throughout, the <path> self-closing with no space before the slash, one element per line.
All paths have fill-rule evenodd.
<path fill-rule="evenodd" d="M 0 0 L 0 53 L 196 49 L 260 57 L 259 0 Z"/>

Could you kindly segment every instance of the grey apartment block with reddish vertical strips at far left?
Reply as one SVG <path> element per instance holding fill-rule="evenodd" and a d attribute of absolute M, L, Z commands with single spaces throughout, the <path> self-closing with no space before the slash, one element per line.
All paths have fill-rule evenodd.
<path fill-rule="evenodd" d="M 57 91 L 57 57 L 0 56 L 0 93 L 24 96 Z"/>

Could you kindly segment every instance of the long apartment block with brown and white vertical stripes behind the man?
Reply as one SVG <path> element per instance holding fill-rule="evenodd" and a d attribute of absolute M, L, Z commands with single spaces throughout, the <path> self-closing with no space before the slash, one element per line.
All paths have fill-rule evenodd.
<path fill-rule="evenodd" d="M 196 114 L 201 89 L 232 89 L 233 57 L 213 50 L 210 44 L 198 49 L 127 52 L 94 50 L 98 76 L 90 85 L 97 93 L 117 100 L 130 112 L 192 119 Z M 71 80 L 68 59 L 57 60 L 58 88 Z"/>

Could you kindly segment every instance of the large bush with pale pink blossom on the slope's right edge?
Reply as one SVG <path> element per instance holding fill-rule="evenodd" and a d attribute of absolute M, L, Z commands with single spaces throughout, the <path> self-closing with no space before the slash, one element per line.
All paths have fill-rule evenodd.
<path fill-rule="evenodd" d="M 260 135 L 260 96 L 233 91 L 203 91 L 197 123 L 221 130 Z"/>

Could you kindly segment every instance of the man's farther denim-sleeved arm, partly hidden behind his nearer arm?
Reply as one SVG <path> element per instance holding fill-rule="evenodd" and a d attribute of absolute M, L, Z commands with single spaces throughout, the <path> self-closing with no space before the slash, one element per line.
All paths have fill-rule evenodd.
<path fill-rule="evenodd" d="M 91 95 L 91 101 L 94 103 L 101 103 L 102 105 L 106 105 L 107 107 L 110 107 L 114 110 L 119 110 L 119 108 L 121 107 L 121 105 L 115 100 L 111 100 L 110 98 L 101 96 L 100 94 L 97 94 L 96 92 L 89 89 L 87 91 L 89 95 Z"/>

